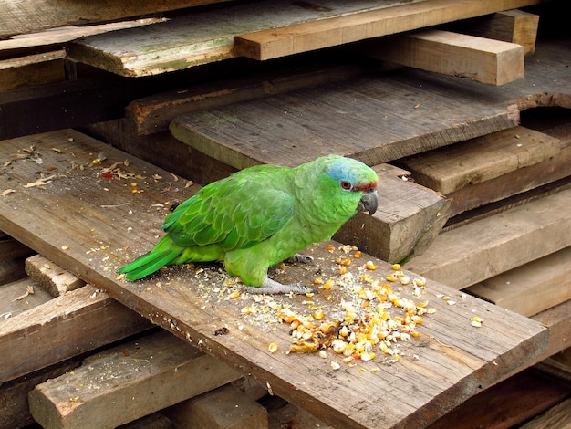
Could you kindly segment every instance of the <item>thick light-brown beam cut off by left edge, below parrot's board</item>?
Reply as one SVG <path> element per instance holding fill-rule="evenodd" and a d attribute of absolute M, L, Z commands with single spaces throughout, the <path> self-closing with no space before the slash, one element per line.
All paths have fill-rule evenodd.
<path fill-rule="evenodd" d="M 23 288 L 23 292 L 26 288 Z M 0 323 L 0 382 L 150 328 L 104 291 L 86 286 Z"/>

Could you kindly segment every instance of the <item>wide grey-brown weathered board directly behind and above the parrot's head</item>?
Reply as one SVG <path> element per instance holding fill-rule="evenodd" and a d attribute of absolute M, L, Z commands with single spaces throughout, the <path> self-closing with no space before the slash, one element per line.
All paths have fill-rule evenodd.
<path fill-rule="evenodd" d="M 330 152 L 375 165 L 514 127 L 519 110 L 571 107 L 568 41 L 539 43 L 525 78 L 501 89 L 400 70 L 185 114 L 171 132 L 236 168 Z"/>

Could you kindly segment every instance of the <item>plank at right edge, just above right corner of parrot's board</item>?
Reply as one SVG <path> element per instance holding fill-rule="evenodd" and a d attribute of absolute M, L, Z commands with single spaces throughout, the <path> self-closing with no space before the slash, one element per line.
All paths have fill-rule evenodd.
<path fill-rule="evenodd" d="M 571 247 L 466 289 L 476 297 L 533 316 L 571 299 Z"/>

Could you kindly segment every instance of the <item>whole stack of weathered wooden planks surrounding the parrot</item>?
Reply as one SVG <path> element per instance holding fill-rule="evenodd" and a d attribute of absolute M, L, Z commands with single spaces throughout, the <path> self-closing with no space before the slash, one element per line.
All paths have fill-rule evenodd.
<path fill-rule="evenodd" d="M 0 425 L 568 420 L 570 39 L 536 39 L 556 5 L 0 3 Z M 287 353 L 288 327 L 253 310 L 335 314 L 345 290 L 230 298 L 212 266 L 117 277 L 196 183 L 330 152 L 379 173 L 379 211 L 273 275 L 313 284 L 351 244 L 376 277 L 426 277 L 436 312 L 398 361 Z M 514 392 L 509 418 L 474 420 Z"/>

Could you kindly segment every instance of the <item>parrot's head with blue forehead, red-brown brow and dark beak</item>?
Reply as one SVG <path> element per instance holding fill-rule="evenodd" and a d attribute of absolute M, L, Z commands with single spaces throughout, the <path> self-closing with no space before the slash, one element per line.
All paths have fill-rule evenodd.
<path fill-rule="evenodd" d="M 351 158 L 328 155 L 323 159 L 327 166 L 325 173 L 333 179 L 332 186 L 337 186 L 335 194 L 338 200 L 357 201 L 359 212 L 374 214 L 379 206 L 377 173 L 363 162 Z"/>

